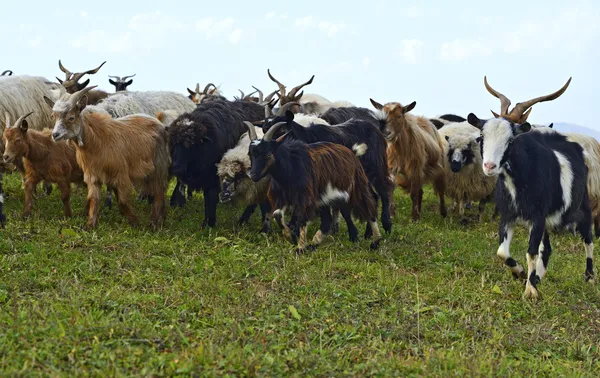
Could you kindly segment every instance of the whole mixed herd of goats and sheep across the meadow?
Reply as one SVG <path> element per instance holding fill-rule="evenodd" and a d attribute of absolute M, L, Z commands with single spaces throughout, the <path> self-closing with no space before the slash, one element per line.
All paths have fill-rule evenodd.
<path fill-rule="evenodd" d="M 106 62 L 104 62 L 106 63 Z M 593 137 L 560 133 L 527 122 L 532 106 L 555 100 L 569 86 L 517 103 L 492 88 L 500 112 L 480 119 L 454 114 L 413 115 L 416 102 L 379 103 L 373 108 L 304 94 L 314 75 L 291 90 L 269 70 L 277 89 L 269 95 L 256 87 L 229 100 L 210 83 L 188 95 L 169 91 L 129 91 L 133 76 L 110 76 L 114 93 L 80 82 L 104 65 L 73 73 L 61 61 L 64 79 L 0 76 L 2 172 L 21 174 L 23 216 L 32 212 L 37 186 L 60 190 L 65 216 L 71 216 L 71 184 L 87 186 L 86 228 L 94 228 L 101 210 L 116 195 L 119 211 L 132 225 L 134 190 L 151 205 L 151 226 L 162 227 L 167 188 L 176 180 L 171 206 L 185 206 L 194 191 L 203 192 L 202 227 L 214 227 L 219 203 L 244 204 L 239 224 L 256 208 L 261 232 L 273 220 L 297 252 L 314 249 L 335 233 L 340 215 L 351 241 L 359 240 L 355 220 L 366 224 L 364 238 L 378 248 L 381 225 L 392 230 L 393 192 L 410 194 L 411 216 L 421 216 L 423 186 L 453 201 L 466 224 L 465 207 L 487 202 L 500 214 L 497 254 L 513 276 L 525 280 L 525 296 L 538 297 L 551 254 L 550 232 L 571 229 L 584 241 L 586 281 L 593 282 L 593 236 L 600 236 L 600 143 Z M 1 172 L 0 172 L 1 174 Z M 0 222 L 2 211 L 0 176 Z M 381 209 L 380 215 L 379 209 Z M 312 240 L 307 224 L 320 219 Z M 529 227 L 527 273 L 509 247 L 518 223 Z"/>

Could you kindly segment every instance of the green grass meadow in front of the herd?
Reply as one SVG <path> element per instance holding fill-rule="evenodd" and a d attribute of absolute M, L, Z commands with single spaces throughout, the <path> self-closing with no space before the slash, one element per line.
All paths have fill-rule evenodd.
<path fill-rule="evenodd" d="M 555 236 L 542 299 L 522 299 L 495 255 L 497 223 L 443 220 L 427 191 L 423 218 L 396 191 L 378 251 L 345 226 L 296 256 L 258 213 L 221 206 L 199 230 L 196 195 L 147 229 L 103 209 L 99 227 L 62 218 L 55 189 L 20 218 L 18 175 L 5 177 L 0 231 L 0 376 L 598 376 L 600 295 L 583 279 L 582 242 Z M 169 191 L 170 192 L 170 191 Z M 474 211 L 474 210 L 473 210 Z M 317 222 L 318 223 L 318 222 Z M 311 227 L 311 237 L 315 226 Z M 364 231 L 364 225 L 360 225 Z M 362 232 L 361 231 L 361 232 Z M 513 255 L 524 263 L 526 231 Z"/>

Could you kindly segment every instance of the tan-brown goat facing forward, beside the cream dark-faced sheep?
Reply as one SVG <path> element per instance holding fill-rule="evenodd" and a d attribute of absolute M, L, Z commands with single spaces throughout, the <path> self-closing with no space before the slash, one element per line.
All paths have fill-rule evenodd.
<path fill-rule="evenodd" d="M 406 106 L 397 102 L 381 105 L 371 99 L 371 103 L 383 112 L 388 163 L 396 175 L 396 184 L 410 193 L 413 221 L 421 218 L 423 185 L 428 182 L 440 197 L 440 214 L 446 217 L 444 139 L 427 118 L 408 114 L 416 102 Z"/>

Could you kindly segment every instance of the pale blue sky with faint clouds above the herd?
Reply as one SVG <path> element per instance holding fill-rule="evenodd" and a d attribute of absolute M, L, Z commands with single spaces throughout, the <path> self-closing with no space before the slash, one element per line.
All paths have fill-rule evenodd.
<path fill-rule="evenodd" d="M 558 90 L 529 117 L 600 130 L 600 2 L 484 1 L 10 1 L 2 5 L 0 71 L 64 78 L 107 63 L 108 75 L 136 74 L 129 90 L 187 95 L 199 82 L 225 96 L 255 85 L 288 89 L 315 75 L 305 93 L 371 108 L 417 102 L 413 114 L 499 111 L 483 77 L 513 104 Z M 352 4 L 352 5 L 350 5 Z M 55 80 L 55 79 L 54 79 Z"/>

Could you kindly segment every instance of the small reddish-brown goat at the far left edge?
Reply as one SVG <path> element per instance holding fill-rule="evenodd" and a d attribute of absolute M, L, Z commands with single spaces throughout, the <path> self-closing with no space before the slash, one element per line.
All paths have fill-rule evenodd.
<path fill-rule="evenodd" d="M 31 215 L 33 192 L 42 180 L 58 185 L 65 216 L 70 217 L 72 215 L 71 183 L 83 185 L 83 171 L 77 165 L 75 147 L 66 141 L 54 143 L 48 129 L 29 130 L 25 119 L 29 114 L 21 116 L 12 127 L 10 127 L 10 116 L 6 114 L 7 129 L 2 135 L 5 146 L 4 161 L 12 163 L 23 159 L 25 167 L 23 217 L 28 218 Z"/>

